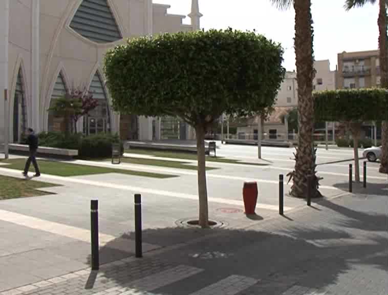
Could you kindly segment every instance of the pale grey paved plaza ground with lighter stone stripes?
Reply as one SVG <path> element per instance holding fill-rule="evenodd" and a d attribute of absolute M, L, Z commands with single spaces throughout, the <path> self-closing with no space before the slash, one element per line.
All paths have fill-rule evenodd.
<path fill-rule="evenodd" d="M 368 163 L 367 188 L 354 183 L 349 194 L 353 150 L 319 148 L 325 198 L 307 207 L 286 194 L 281 217 L 278 176 L 292 171 L 294 150 L 263 147 L 258 160 L 254 146 L 218 146 L 218 156 L 268 165 L 207 162 L 219 168 L 207 172 L 209 217 L 222 223 L 213 229 L 182 225 L 198 216 L 196 171 L 130 163 L 119 167 L 178 177 L 42 171 L 38 181 L 61 185 L 44 188 L 53 195 L 0 202 L 0 294 L 387 293 L 388 185 L 379 163 Z M 74 164 L 85 163 L 112 166 Z M 0 174 L 21 176 L 4 165 Z M 258 184 L 255 217 L 244 215 L 245 180 Z M 142 259 L 134 258 L 135 193 L 142 194 Z M 91 199 L 99 200 L 98 272 L 89 268 Z"/>

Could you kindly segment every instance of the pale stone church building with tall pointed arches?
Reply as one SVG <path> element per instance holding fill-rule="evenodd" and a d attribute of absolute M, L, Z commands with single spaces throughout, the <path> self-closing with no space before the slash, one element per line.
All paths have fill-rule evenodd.
<path fill-rule="evenodd" d="M 175 118 L 120 116 L 104 82 L 104 54 L 126 38 L 200 29 L 198 0 L 192 0 L 189 25 L 168 8 L 152 0 L 1 0 L 0 142 L 7 125 L 10 142 L 28 127 L 61 131 L 63 118 L 48 109 L 77 87 L 99 101 L 78 121 L 78 131 L 119 133 L 124 140 L 192 138 L 191 128 Z"/>

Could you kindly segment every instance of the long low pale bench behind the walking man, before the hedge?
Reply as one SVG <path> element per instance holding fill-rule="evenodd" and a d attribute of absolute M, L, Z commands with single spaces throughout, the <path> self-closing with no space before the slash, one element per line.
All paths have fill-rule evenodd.
<path fill-rule="evenodd" d="M 4 148 L 4 144 L 2 144 L 2 146 Z M 27 144 L 10 143 L 8 144 L 8 150 L 10 153 L 28 155 L 29 147 Z M 39 157 L 52 156 L 55 158 L 69 159 L 78 156 L 78 151 L 58 149 L 57 147 L 39 146 L 36 155 Z"/>

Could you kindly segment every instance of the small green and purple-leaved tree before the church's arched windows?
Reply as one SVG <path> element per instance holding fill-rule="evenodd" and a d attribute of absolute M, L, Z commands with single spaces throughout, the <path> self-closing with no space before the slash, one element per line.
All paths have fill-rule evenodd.
<path fill-rule="evenodd" d="M 86 88 L 71 89 L 66 94 L 56 99 L 48 111 L 54 111 L 56 116 L 62 116 L 65 122 L 65 133 L 70 134 L 70 120 L 77 133 L 77 122 L 82 116 L 88 115 L 98 106 L 98 100 L 93 98 L 93 93 Z"/>

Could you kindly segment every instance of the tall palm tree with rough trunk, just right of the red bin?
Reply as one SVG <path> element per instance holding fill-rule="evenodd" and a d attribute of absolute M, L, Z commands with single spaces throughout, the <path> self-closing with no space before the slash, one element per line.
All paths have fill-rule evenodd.
<path fill-rule="evenodd" d="M 293 5 L 295 10 L 295 55 L 296 80 L 298 83 L 299 142 L 295 154 L 295 170 L 289 173 L 293 178 L 291 195 L 307 196 L 307 176 L 311 175 L 311 196 L 318 197 L 318 178 L 315 176 L 315 151 L 313 146 L 314 101 L 312 98 L 315 76 L 313 56 L 313 20 L 311 0 L 271 0 L 278 8 Z"/>

